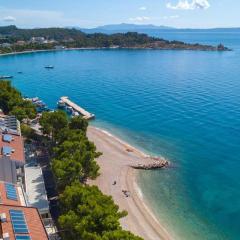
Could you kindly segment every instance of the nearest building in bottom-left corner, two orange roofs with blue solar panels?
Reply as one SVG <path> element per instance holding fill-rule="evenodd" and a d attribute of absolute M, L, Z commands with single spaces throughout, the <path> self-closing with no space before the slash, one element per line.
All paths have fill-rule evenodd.
<path fill-rule="evenodd" d="M 21 184 L 0 182 L 0 239 L 48 239 L 38 209 L 27 206 Z"/>

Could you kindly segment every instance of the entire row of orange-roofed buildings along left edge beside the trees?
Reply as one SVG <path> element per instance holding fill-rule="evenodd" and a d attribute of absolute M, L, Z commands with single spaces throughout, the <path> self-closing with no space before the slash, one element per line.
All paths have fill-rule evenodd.
<path fill-rule="evenodd" d="M 16 117 L 0 112 L 0 240 L 56 239 L 42 169 L 29 155 Z"/>

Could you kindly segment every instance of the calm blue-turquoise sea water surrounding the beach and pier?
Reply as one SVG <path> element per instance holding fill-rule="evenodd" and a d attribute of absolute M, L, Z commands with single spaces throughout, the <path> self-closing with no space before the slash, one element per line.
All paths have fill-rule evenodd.
<path fill-rule="evenodd" d="M 0 58 L 25 95 L 68 95 L 95 125 L 173 168 L 142 172 L 146 200 L 177 239 L 240 239 L 240 34 L 152 32 L 232 52 L 92 50 Z M 54 70 L 45 65 L 53 64 Z M 22 71 L 23 74 L 17 74 Z"/>

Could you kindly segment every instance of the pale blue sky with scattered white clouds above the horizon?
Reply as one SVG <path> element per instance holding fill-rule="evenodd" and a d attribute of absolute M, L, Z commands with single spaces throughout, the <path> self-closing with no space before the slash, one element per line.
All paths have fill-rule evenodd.
<path fill-rule="evenodd" d="M 240 27 L 237 0 L 0 0 L 0 25 Z"/>

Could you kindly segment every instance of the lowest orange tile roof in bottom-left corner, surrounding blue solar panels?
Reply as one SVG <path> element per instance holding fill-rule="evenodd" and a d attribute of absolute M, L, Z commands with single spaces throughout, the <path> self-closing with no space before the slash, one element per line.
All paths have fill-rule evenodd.
<path fill-rule="evenodd" d="M 9 210 L 23 211 L 31 240 L 47 240 L 48 239 L 47 232 L 43 226 L 41 217 L 36 208 L 0 205 L 0 214 L 5 213 L 7 217 L 6 222 L 0 223 L 2 233 L 8 233 L 10 236 L 10 239 L 15 239 L 15 236 L 14 236 L 14 231 L 11 223 Z"/>

